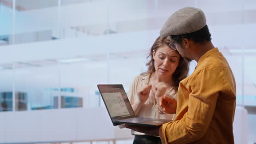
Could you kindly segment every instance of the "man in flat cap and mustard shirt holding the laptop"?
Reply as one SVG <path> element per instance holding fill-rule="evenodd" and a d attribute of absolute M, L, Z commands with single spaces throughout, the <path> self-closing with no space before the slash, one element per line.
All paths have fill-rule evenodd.
<path fill-rule="evenodd" d="M 125 125 L 162 143 L 234 143 L 232 122 L 236 84 L 228 62 L 211 42 L 203 11 L 186 7 L 168 18 L 160 31 L 170 47 L 197 66 L 179 83 L 176 118 L 161 127 Z M 168 109 L 168 106 L 165 107 Z"/>

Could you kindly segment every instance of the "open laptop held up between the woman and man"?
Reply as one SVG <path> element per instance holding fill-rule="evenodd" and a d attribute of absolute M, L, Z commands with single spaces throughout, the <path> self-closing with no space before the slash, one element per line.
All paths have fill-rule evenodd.
<path fill-rule="evenodd" d="M 123 85 L 97 85 L 113 125 L 143 125 L 157 127 L 170 119 L 136 117 Z"/>

